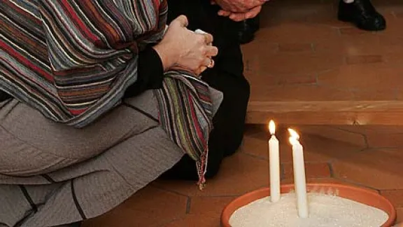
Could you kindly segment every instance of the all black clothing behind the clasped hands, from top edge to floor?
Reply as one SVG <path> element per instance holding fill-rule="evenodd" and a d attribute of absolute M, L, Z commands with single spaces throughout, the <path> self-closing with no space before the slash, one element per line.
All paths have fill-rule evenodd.
<path fill-rule="evenodd" d="M 213 118 L 213 131 L 208 140 L 206 177 L 211 178 L 220 169 L 222 159 L 234 153 L 242 142 L 246 107 L 250 86 L 243 76 L 242 53 L 237 41 L 237 25 L 219 17 L 218 8 L 203 0 L 170 0 L 169 20 L 186 15 L 189 29 L 202 29 L 214 36 L 219 49 L 215 67 L 203 73 L 203 80 L 224 94 L 224 99 Z M 188 155 L 162 175 L 166 179 L 197 180 L 195 161 Z"/>

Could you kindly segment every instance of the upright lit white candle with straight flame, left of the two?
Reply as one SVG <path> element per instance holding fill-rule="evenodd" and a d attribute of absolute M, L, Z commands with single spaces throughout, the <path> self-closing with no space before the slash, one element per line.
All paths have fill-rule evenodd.
<path fill-rule="evenodd" d="M 278 149 L 278 139 L 274 133 L 276 125 L 274 121 L 269 123 L 271 138 L 269 139 L 269 168 L 270 168 L 270 199 L 271 202 L 280 200 L 280 156 Z"/>

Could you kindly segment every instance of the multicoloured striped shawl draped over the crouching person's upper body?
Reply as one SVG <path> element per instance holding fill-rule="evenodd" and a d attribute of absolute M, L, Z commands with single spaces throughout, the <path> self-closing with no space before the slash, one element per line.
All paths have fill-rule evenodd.
<path fill-rule="evenodd" d="M 1 0 L 0 89 L 82 128 L 120 103 L 166 0 Z"/>

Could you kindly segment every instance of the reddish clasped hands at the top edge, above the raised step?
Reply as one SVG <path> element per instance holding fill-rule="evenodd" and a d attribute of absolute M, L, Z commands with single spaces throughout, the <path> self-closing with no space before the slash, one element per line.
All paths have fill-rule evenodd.
<path fill-rule="evenodd" d="M 247 13 L 250 9 L 262 6 L 268 0 L 212 0 L 211 4 L 218 4 L 223 11 L 231 13 Z"/>

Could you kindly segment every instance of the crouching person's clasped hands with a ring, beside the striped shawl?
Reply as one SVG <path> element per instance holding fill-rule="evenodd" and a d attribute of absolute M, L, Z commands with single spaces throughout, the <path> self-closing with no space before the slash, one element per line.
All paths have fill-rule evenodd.
<path fill-rule="evenodd" d="M 199 75 L 214 66 L 211 57 L 218 54 L 218 48 L 211 46 L 211 34 L 196 34 L 187 26 L 188 19 L 184 15 L 173 20 L 154 49 L 161 57 L 164 70 L 179 68 Z"/>

